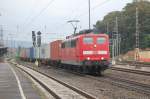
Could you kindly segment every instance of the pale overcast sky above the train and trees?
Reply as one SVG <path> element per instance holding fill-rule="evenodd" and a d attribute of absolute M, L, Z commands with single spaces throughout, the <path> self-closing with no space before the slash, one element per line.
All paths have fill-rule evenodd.
<path fill-rule="evenodd" d="M 91 27 L 111 11 L 121 11 L 132 0 L 91 0 Z M 42 32 L 42 42 L 73 34 L 67 21 L 79 20 L 88 28 L 88 0 L 0 0 L 0 26 L 5 40 L 32 41 L 31 32 Z"/>

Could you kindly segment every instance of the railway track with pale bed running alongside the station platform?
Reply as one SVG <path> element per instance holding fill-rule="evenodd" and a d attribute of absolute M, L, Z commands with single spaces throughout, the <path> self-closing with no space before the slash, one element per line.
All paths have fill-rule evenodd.
<path fill-rule="evenodd" d="M 96 97 L 78 89 L 78 88 L 75 88 L 71 85 L 68 85 L 54 77 L 51 77 L 49 75 L 46 75 L 45 73 L 42 73 L 40 71 L 37 71 L 35 69 L 32 69 L 32 68 L 29 68 L 29 67 L 25 67 L 25 66 L 22 66 L 22 65 L 19 65 L 15 62 L 11 62 L 12 64 L 16 65 L 17 68 L 21 69 L 22 71 L 26 72 L 28 75 L 30 75 L 34 80 L 36 80 L 41 86 L 43 86 L 43 88 L 45 88 L 54 98 L 56 99 L 67 99 L 68 97 L 67 96 L 71 96 L 69 97 L 68 99 L 96 99 Z M 37 75 L 35 76 L 35 74 L 37 73 Z M 62 90 L 61 92 L 58 91 L 58 93 L 56 93 L 55 89 L 53 89 L 52 87 L 55 86 L 53 85 L 51 88 L 49 87 L 49 84 L 46 84 L 45 82 L 42 81 L 42 78 L 38 78 L 38 77 L 42 77 L 42 78 L 46 78 L 45 81 L 48 81 L 49 79 L 55 81 L 56 83 L 59 84 L 59 86 L 63 86 L 61 87 L 61 89 L 59 90 Z M 53 82 L 52 81 L 52 82 Z M 68 89 L 68 90 L 65 90 Z M 58 90 L 58 88 L 56 88 Z M 64 92 L 64 93 L 63 93 Z M 69 93 L 67 93 L 69 92 Z M 62 95 L 64 94 L 64 95 Z M 69 94 L 69 95 L 67 95 Z M 67 97 L 67 98 L 66 98 Z"/>

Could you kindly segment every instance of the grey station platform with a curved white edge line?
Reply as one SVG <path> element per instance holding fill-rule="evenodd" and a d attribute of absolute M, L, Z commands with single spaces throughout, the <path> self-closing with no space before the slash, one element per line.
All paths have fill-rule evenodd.
<path fill-rule="evenodd" d="M 0 63 L 0 99 L 43 99 L 39 89 L 16 67 Z"/>

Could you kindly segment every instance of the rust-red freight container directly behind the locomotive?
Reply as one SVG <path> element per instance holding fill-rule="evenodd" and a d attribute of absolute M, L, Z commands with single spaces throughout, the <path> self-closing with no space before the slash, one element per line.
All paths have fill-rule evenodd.
<path fill-rule="evenodd" d="M 50 43 L 51 60 L 59 61 L 61 59 L 61 42 L 62 40 L 56 40 Z"/>

